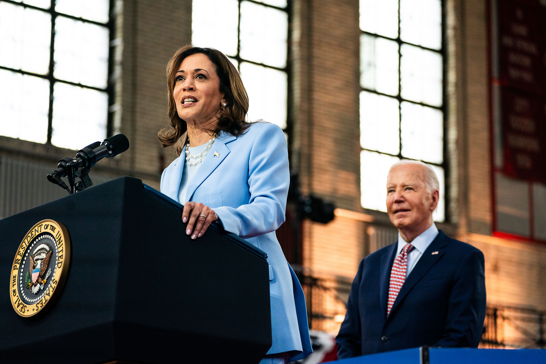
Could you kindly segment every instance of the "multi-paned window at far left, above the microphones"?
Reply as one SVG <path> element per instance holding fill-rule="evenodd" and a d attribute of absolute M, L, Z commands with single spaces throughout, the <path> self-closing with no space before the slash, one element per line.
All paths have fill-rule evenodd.
<path fill-rule="evenodd" d="M 106 137 L 111 7 L 0 0 L 0 135 L 72 149 Z"/>

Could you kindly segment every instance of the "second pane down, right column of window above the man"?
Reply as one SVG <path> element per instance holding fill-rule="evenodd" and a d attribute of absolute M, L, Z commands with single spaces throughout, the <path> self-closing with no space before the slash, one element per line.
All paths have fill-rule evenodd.
<path fill-rule="evenodd" d="M 442 106 L 442 55 L 407 44 L 400 51 L 402 98 Z"/>

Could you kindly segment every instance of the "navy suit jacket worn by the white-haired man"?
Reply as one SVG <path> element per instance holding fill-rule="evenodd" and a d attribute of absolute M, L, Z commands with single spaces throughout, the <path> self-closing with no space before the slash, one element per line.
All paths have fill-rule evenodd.
<path fill-rule="evenodd" d="M 477 347 L 485 318 L 482 252 L 440 230 L 387 317 L 396 248 L 391 244 L 360 262 L 336 337 L 339 358 L 423 345 Z"/>

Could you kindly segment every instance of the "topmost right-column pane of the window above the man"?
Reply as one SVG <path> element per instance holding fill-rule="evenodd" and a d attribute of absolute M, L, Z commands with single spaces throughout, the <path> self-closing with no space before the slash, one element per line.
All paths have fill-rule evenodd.
<path fill-rule="evenodd" d="M 442 47 L 441 0 L 401 0 L 400 39 L 424 47 Z"/>

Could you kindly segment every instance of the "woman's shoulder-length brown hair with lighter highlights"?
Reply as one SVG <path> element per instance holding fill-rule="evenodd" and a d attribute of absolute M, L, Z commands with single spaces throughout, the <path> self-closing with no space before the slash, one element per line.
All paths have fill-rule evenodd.
<path fill-rule="evenodd" d="M 216 74 L 220 79 L 220 92 L 227 102 L 225 108 L 219 108 L 216 129 L 207 130 L 211 133 L 227 132 L 233 135 L 244 134 L 250 123 L 246 121 L 248 111 L 248 94 L 242 84 L 241 76 L 235 66 L 224 53 L 213 48 L 194 47 L 185 45 L 174 53 L 167 63 L 167 112 L 170 128 L 159 130 L 157 137 L 163 147 L 176 144 L 176 153 L 180 156 L 186 144 L 186 122 L 178 116 L 176 102 L 173 97 L 176 72 L 182 61 L 196 53 L 203 53 L 209 57 L 216 67 Z M 182 138 L 182 139 L 181 139 Z M 180 141 L 180 142 L 179 142 Z"/>

